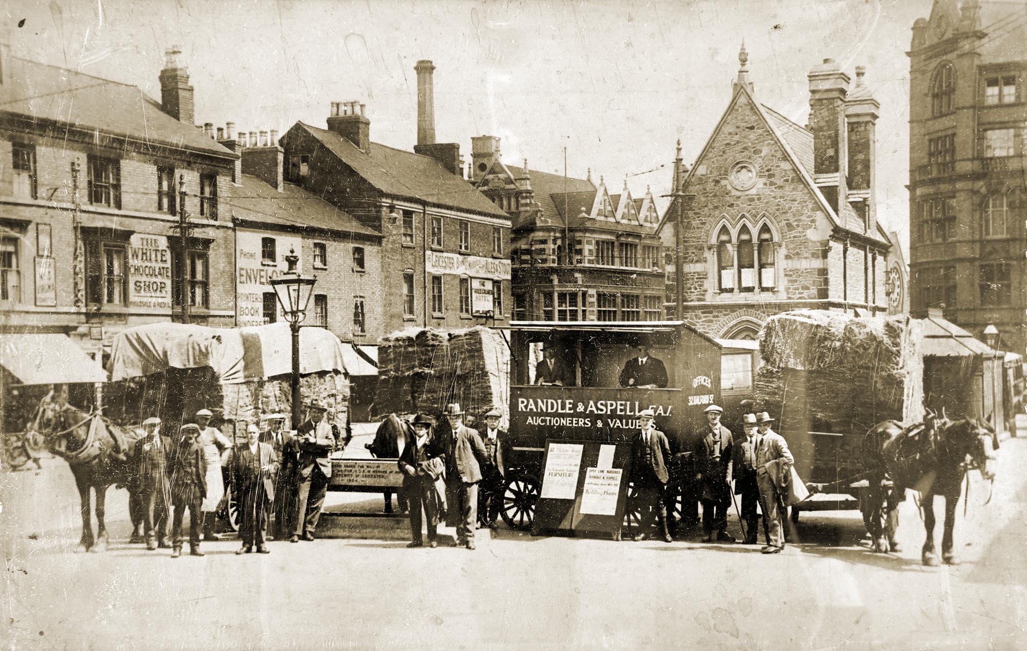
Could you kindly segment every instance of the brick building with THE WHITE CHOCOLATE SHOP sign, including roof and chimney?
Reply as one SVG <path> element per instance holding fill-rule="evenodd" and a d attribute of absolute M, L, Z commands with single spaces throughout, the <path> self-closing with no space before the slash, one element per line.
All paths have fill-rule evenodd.
<path fill-rule="evenodd" d="M 117 332 L 183 304 L 193 322 L 234 322 L 238 157 L 194 126 L 179 55 L 158 102 L 0 44 L 0 332 L 67 335 L 101 362 Z"/>

